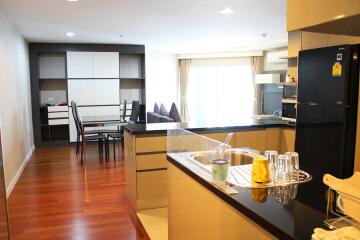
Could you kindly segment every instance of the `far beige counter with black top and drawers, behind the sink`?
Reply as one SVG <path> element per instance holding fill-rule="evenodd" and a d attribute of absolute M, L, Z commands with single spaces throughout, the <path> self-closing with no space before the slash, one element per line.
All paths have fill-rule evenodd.
<path fill-rule="evenodd" d="M 223 124 L 155 123 L 125 126 L 126 195 L 136 212 L 168 206 L 167 130 L 183 128 L 232 147 L 279 152 L 294 150 L 295 128 L 282 120 L 245 120 Z"/>

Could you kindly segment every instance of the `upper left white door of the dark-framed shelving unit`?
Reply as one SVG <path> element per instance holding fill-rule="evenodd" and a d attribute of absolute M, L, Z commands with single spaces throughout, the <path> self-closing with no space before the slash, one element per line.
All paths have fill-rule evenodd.
<path fill-rule="evenodd" d="M 93 52 L 67 52 L 68 78 L 93 78 Z"/>

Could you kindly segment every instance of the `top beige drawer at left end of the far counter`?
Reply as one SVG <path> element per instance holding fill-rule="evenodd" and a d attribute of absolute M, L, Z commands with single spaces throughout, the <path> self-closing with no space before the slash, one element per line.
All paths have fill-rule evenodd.
<path fill-rule="evenodd" d="M 136 153 L 166 151 L 166 136 L 136 138 Z"/>

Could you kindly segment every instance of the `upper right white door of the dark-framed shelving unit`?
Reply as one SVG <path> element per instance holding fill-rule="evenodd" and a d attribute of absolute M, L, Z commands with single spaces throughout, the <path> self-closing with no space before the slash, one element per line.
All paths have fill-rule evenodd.
<path fill-rule="evenodd" d="M 94 53 L 94 78 L 119 78 L 119 53 Z"/>

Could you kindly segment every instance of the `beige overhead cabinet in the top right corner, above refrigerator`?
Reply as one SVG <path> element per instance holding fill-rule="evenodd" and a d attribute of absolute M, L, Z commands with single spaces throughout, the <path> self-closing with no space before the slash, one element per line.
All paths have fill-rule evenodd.
<path fill-rule="evenodd" d="M 335 20 L 339 15 L 348 17 L 359 13 L 359 0 L 288 0 L 287 30 L 300 30 Z"/>

